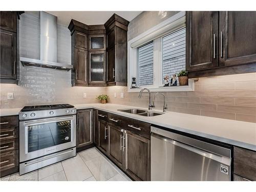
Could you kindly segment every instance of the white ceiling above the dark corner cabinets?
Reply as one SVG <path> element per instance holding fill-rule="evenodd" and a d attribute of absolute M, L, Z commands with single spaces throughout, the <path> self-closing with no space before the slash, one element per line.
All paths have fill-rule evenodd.
<path fill-rule="evenodd" d="M 129 20 L 129 22 L 139 15 L 142 11 L 46 11 L 57 16 L 58 24 L 68 27 L 70 20 L 73 18 L 78 22 L 86 25 L 102 25 L 114 13 Z"/>

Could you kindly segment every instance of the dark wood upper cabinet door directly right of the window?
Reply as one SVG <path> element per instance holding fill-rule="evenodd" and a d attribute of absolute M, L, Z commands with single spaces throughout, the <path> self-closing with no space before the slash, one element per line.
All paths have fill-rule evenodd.
<path fill-rule="evenodd" d="M 187 71 L 218 66 L 218 19 L 218 12 L 186 13 Z"/>

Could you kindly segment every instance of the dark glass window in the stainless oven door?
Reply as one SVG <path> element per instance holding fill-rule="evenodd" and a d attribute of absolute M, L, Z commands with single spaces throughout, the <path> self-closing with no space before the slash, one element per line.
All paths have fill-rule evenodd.
<path fill-rule="evenodd" d="M 71 120 L 28 126 L 28 153 L 71 142 Z"/>

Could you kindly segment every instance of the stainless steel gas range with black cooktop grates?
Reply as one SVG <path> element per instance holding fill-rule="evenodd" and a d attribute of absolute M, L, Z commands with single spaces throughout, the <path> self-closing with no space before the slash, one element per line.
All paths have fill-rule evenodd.
<path fill-rule="evenodd" d="M 25 106 L 19 112 L 19 174 L 76 156 L 76 109 Z"/>

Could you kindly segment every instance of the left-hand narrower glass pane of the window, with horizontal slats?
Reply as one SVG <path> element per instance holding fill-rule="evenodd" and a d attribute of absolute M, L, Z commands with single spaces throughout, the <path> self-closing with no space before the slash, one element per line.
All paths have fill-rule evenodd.
<path fill-rule="evenodd" d="M 139 86 L 153 84 L 154 41 L 138 48 Z"/>

